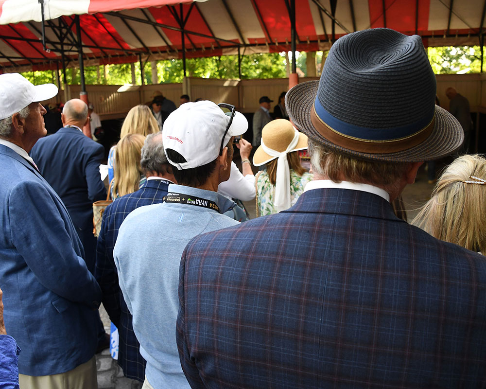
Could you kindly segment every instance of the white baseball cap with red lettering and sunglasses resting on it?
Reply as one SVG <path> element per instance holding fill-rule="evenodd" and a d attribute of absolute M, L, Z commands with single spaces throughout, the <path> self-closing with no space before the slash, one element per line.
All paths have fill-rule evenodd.
<path fill-rule="evenodd" d="M 182 104 L 165 120 L 162 128 L 164 151 L 172 149 L 187 162 L 169 162 L 177 169 L 192 169 L 215 160 L 220 152 L 221 141 L 230 120 L 229 113 L 212 101 Z M 232 136 L 242 135 L 248 129 L 248 121 L 242 113 L 235 116 L 225 135 L 223 145 Z"/>

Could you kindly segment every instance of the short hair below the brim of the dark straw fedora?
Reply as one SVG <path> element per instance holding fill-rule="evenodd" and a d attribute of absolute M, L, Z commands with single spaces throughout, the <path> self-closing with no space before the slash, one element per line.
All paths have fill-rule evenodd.
<path fill-rule="evenodd" d="M 334 182 L 346 180 L 379 186 L 388 193 L 399 191 L 400 177 L 410 168 L 409 162 L 368 161 L 339 154 L 309 138 L 309 155 L 314 173 Z"/>

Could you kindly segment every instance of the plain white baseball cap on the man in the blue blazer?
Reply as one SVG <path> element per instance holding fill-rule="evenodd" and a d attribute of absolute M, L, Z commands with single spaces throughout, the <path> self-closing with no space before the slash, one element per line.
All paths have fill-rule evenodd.
<path fill-rule="evenodd" d="M 18 73 L 0 74 L 0 120 L 31 103 L 50 99 L 58 91 L 54 84 L 34 85 Z"/>

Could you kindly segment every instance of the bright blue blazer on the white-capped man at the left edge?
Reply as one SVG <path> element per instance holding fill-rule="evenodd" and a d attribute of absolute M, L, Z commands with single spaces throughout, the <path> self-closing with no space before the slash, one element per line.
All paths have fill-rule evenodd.
<path fill-rule="evenodd" d="M 51 186 L 1 144 L 0 166 L 0 287 L 5 327 L 22 349 L 18 371 L 69 371 L 96 351 L 101 289 Z"/>

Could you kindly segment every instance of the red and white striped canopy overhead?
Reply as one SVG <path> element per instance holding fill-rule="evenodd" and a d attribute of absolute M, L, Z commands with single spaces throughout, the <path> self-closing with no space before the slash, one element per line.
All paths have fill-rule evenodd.
<path fill-rule="evenodd" d="M 3 71 L 56 69 L 61 51 L 87 65 L 290 50 L 290 0 L 0 0 Z M 453 7 L 450 8 L 450 5 Z M 479 44 L 486 0 L 295 0 L 297 50 L 326 50 L 366 28 L 419 34 L 431 46 Z"/>

